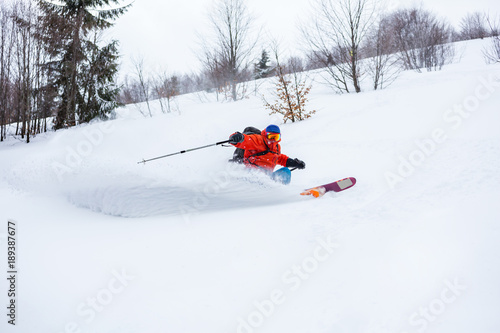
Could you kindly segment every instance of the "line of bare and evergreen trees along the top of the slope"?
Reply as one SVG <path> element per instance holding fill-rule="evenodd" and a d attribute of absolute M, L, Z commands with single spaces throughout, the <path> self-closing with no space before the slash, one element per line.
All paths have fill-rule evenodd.
<path fill-rule="evenodd" d="M 454 41 L 494 37 L 485 58 L 500 58 L 499 22 L 480 12 L 466 15 L 457 30 L 422 8 L 383 12 L 377 1 L 314 0 L 298 36 L 303 55 L 278 62 L 279 43 L 263 44 L 252 33 L 258 27 L 245 0 L 219 0 L 200 38 L 200 71 L 148 75 L 144 59 L 135 59 L 134 73 L 118 83 L 118 43 L 104 40 L 102 31 L 128 9 L 120 2 L 0 4 L 0 141 L 29 142 L 48 130 L 107 119 L 121 104 L 147 102 L 149 109 L 149 101 L 159 99 L 170 112 L 179 94 L 236 101 L 257 93 L 249 82 L 278 70 L 321 69 L 325 82 L 345 93 L 360 92 L 367 79 L 373 89 L 383 88 L 400 70 L 439 70 L 454 58 Z M 115 8 L 106 9 L 110 5 Z"/>

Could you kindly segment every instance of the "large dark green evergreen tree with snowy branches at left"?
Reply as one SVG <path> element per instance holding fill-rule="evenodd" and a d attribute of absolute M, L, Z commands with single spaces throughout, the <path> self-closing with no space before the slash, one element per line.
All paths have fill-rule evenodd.
<path fill-rule="evenodd" d="M 116 41 L 100 47 L 95 34 L 111 27 L 110 20 L 128 6 L 104 9 L 120 0 L 38 1 L 45 23 L 41 38 L 52 57 L 47 66 L 56 73 L 52 84 L 60 94 L 55 129 L 106 117 L 116 107 L 118 53 Z"/>

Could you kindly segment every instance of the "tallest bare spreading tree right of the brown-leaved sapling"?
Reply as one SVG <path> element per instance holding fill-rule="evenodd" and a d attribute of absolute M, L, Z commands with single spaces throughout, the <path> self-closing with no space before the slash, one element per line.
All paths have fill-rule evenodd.
<path fill-rule="evenodd" d="M 338 92 L 361 91 L 360 48 L 375 19 L 372 0 L 316 0 L 312 26 L 303 27 L 306 43 L 327 70 Z"/>

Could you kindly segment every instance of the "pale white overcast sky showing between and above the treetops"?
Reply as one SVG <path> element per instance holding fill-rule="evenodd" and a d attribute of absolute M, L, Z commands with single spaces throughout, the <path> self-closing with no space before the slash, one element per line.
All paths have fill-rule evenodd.
<path fill-rule="evenodd" d="M 110 34 L 120 42 L 123 71 L 131 71 L 131 58 L 142 56 L 150 70 L 166 69 L 178 74 L 199 69 L 197 32 L 210 28 L 208 12 L 217 0 L 135 0 Z M 123 3 L 129 3 L 124 0 Z M 281 40 L 286 48 L 297 47 L 300 19 L 311 7 L 310 0 L 248 0 L 257 17 L 256 25 Z M 468 12 L 500 14 L 499 0 L 386 0 L 386 9 L 422 3 L 425 9 L 445 16 L 458 26 Z M 293 50 L 293 52 L 299 52 Z M 297 54 L 299 55 L 299 54 Z"/>

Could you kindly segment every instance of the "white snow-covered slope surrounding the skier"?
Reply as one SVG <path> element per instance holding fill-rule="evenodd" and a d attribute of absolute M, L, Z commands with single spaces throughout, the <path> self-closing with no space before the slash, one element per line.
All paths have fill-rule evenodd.
<path fill-rule="evenodd" d="M 130 106 L 0 144 L 1 331 L 499 332 L 500 64 L 484 64 L 488 42 L 381 91 L 315 84 L 318 112 L 300 123 L 255 96 L 182 96 L 180 114 Z M 288 186 L 229 165 L 232 148 L 137 164 L 270 123 L 307 163 Z M 298 195 L 348 176 L 345 192 Z"/>

